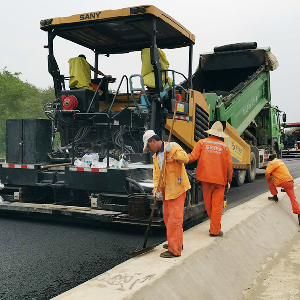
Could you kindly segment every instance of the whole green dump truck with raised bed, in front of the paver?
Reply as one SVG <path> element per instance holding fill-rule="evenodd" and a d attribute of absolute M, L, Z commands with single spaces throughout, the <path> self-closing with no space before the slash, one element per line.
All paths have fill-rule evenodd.
<path fill-rule="evenodd" d="M 239 43 L 201 54 L 193 75 L 193 89 L 205 94 L 210 123 L 222 121 L 225 127 L 228 122 L 251 147 L 249 168 L 235 171 L 239 186 L 255 179 L 256 168 L 265 168 L 270 153 L 281 156 L 280 110 L 270 103 L 269 71 L 277 66 L 270 47 Z M 230 150 L 235 162 L 239 147 L 230 144 Z"/>

